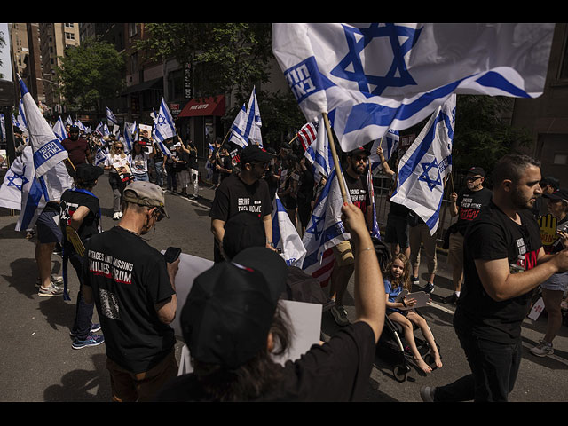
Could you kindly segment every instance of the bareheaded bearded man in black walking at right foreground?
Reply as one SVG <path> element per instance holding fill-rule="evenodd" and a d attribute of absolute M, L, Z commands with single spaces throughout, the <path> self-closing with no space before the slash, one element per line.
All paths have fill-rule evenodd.
<path fill-rule="evenodd" d="M 508 400 L 533 289 L 568 270 L 568 248 L 545 254 L 530 210 L 542 193 L 540 178 L 540 163 L 527 155 L 505 155 L 495 165 L 493 198 L 464 236 L 464 282 L 454 314 L 471 375 L 442 387 L 422 387 L 422 400 Z"/>

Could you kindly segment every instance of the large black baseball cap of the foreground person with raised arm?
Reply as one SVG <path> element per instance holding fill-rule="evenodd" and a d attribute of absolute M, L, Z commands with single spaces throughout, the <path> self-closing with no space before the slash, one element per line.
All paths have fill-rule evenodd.
<path fill-rule="evenodd" d="M 266 348 L 278 304 L 268 283 L 286 277 L 288 267 L 268 248 L 251 249 L 240 262 L 219 262 L 193 280 L 180 316 L 193 359 L 234 369 Z M 253 256 L 262 270 L 247 264 Z"/>

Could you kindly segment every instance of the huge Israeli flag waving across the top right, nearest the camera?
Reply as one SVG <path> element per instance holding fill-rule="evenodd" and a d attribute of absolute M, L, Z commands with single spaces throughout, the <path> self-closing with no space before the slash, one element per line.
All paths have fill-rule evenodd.
<path fill-rule="evenodd" d="M 272 50 L 305 118 L 327 113 L 351 151 L 452 93 L 540 96 L 554 25 L 274 23 Z"/>

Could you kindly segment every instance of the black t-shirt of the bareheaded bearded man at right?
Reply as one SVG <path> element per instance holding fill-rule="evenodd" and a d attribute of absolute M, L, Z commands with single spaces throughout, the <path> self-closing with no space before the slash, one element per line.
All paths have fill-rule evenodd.
<path fill-rule="evenodd" d="M 533 291 L 497 302 L 485 293 L 475 259 L 508 259 L 511 272 L 533 269 L 542 246 L 539 225 L 530 210 L 518 211 L 517 225 L 493 201 L 468 226 L 464 236 L 464 282 L 454 325 L 473 335 L 501 343 L 514 343 L 528 313 Z M 523 273 L 523 272 L 519 272 Z"/>

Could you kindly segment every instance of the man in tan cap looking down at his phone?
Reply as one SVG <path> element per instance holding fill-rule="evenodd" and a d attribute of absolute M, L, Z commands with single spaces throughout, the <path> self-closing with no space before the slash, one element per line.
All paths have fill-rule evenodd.
<path fill-rule="evenodd" d="M 124 188 L 118 225 L 93 235 L 85 246 L 85 302 L 94 301 L 105 335 L 106 368 L 114 401 L 147 401 L 177 375 L 175 276 L 172 264 L 141 238 L 168 217 L 158 185 Z"/>

